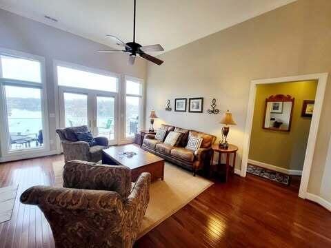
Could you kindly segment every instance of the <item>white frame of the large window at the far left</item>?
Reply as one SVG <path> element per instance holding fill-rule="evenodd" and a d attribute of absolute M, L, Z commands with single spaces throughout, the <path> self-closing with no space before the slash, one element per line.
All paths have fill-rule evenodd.
<path fill-rule="evenodd" d="M 19 52 L 15 50 L 9 50 L 5 48 L 0 48 L 0 55 L 11 56 L 18 59 L 26 59 L 31 61 L 37 61 L 40 63 L 40 73 L 41 73 L 41 82 L 32 82 L 32 81 L 22 81 L 17 79 L 6 79 L 2 77 L 2 67 L 0 59 L 0 121 L 3 123 L 0 130 L 0 141 L 1 141 L 1 157 L 12 159 L 17 159 L 24 156 L 29 156 L 32 154 L 37 154 L 41 152 L 50 151 L 50 134 L 49 134 L 49 123 L 48 123 L 48 100 L 47 100 L 47 88 L 46 88 L 46 62 L 45 58 L 42 56 L 37 56 L 34 54 L 28 54 L 26 52 Z M 43 147 L 32 147 L 28 149 L 10 149 L 10 130 L 8 124 L 7 116 L 7 104 L 6 104 L 6 94 L 5 86 L 12 85 L 16 87 L 30 87 L 38 88 L 41 90 L 41 121 L 43 125 Z M 4 143 L 2 141 L 5 141 Z"/>

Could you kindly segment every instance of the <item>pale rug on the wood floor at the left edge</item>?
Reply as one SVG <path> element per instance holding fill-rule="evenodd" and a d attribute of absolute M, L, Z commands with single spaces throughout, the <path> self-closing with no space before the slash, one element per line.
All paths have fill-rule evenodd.
<path fill-rule="evenodd" d="M 10 185 L 0 188 L 0 223 L 12 218 L 18 185 Z"/>

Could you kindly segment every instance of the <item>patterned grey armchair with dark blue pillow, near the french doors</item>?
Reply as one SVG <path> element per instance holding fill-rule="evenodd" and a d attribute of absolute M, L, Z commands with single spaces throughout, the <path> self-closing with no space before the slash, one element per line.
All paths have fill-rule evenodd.
<path fill-rule="evenodd" d="M 80 127 L 67 127 L 56 132 L 61 139 L 64 161 L 79 159 L 81 161 L 98 162 L 102 158 L 102 150 L 108 147 L 108 138 L 94 137 L 97 145 L 90 147 L 85 141 L 78 141 L 75 132 L 87 132 L 86 125 Z"/>

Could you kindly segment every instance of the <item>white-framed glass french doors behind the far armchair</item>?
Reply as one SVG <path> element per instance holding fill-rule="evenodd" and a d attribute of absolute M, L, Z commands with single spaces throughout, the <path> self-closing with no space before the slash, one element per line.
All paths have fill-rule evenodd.
<path fill-rule="evenodd" d="M 59 87 L 60 125 L 87 125 L 94 136 L 104 136 L 110 145 L 117 144 L 117 93 Z"/>

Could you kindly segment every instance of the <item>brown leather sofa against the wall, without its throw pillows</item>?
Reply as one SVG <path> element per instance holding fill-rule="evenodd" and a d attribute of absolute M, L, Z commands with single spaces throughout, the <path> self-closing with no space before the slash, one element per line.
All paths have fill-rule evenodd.
<path fill-rule="evenodd" d="M 167 145 L 162 141 L 157 141 L 155 135 L 148 134 L 143 139 L 143 149 L 164 158 L 166 161 L 192 170 L 194 176 L 198 170 L 209 168 L 212 158 L 212 144 L 216 141 L 216 136 L 194 130 L 185 130 L 171 125 L 161 125 L 160 129 L 167 130 L 166 135 L 171 131 L 183 133 L 179 144 L 177 146 Z M 201 147 L 195 152 L 190 149 L 185 149 L 189 136 L 203 138 Z"/>

